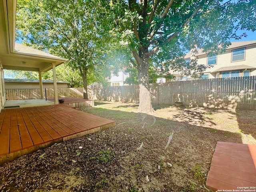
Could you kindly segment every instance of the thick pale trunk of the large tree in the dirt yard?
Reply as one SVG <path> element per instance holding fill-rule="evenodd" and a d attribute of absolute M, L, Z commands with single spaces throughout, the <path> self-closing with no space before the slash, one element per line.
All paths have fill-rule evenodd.
<path fill-rule="evenodd" d="M 154 112 L 151 104 L 151 93 L 149 86 L 149 76 L 148 76 L 148 58 L 140 57 L 136 59 L 138 64 L 138 80 L 139 80 L 139 89 L 140 89 L 140 104 L 138 112 L 151 114 Z"/>

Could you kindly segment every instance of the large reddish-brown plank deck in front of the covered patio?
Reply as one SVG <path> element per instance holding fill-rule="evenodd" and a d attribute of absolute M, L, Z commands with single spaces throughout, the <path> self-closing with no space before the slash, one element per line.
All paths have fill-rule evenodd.
<path fill-rule="evenodd" d="M 115 126 L 115 121 L 66 105 L 3 109 L 0 164 L 39 148 Z"/>

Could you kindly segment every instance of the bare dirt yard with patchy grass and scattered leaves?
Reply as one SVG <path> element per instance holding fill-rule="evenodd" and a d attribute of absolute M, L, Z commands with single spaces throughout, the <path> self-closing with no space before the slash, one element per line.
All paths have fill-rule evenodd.
<path fill-rule="evenodd" d="M 0 191 L 203 192 L 217 141 L 256 144 L 256 111 L 96 102 L 116 121 L 0 167 Z M 169 144 L 168 144 L 169 142 Z"/>

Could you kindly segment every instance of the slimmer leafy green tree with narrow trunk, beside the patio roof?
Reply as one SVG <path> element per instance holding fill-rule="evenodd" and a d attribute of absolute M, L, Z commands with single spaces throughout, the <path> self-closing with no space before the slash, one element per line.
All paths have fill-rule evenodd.
<path fill-rule="evenodd" d="M 110 73 L 102 59 L 110 48 L 101 18 L 87 0 L 18 0 L 16 36 L 24 44 L 68 58 L 68 66 L 80 72 L 88 98 L 88 73 L 92 81 L 104 81 Z"/>

